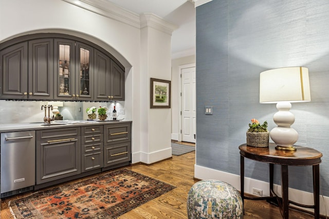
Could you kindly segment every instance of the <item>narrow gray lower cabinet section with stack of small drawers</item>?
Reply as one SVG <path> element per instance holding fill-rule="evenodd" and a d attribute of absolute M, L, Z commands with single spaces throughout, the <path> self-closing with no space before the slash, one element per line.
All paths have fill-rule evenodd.
<path fill-rule="evenodd" d="M 103 126 L 84 126 L 82 129 L 82 172 L 103 166 Z"/>

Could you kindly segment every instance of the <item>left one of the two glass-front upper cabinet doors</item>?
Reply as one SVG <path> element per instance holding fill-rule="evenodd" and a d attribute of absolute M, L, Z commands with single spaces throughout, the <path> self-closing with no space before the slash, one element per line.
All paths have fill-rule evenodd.
<path fill-rule="evenodd" d="M 55 45 L 57 46 L 55 50 L 55 57 L 57 57 L 56 96 L 59 99 L 75 100 L 75 54 L 72 52 L 75 42 L 55 39 Z"/>

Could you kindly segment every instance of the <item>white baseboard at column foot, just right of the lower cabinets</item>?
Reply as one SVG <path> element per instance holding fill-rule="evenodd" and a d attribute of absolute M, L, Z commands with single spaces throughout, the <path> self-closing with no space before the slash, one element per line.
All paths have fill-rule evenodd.
<path fill-rule="evenodd" d="M 151 153 L 136 152 L 132 153 L 132 164 L 142 162 L 144 164 L 153 164 L 167 158 L 172 157 L 171 147 L 159 151 L 154 151 Z"/>

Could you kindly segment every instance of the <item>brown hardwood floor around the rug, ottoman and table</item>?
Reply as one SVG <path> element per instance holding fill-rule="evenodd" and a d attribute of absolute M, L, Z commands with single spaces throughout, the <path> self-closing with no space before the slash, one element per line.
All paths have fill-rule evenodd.
<path fill-rule="evenodd" d="M 187 218 L 187 194 L 197 180 L 194 179 L 195 151 L 180 156 L 172 156 L 155 164 L 134 164 L 125 168 L 151 176 L 157 180 L 169 183 L 177 188 L 163 194 L 154 200 L 135 208 L 119 219 L 138 218 Z M 87 177 L 85 177 L 87 178 Z M 84 179 L 85 179 L 84 178 Z M 76 181 L 75 181 L 76 182 Z M 72 182 L 70 182 L 72 183 Z M 28 195 L 28 193 L 24 194 Z M 22 195 L 16 195 L 1 200 L 0 218 L 13 218 L 8 209 L 8 202 Z M 245 219 L 249 218 L 282 218 L 279 208 L 265 201 L 245 200 Z M 295 210 L 289 210 L 289 218 L 313 218 L 312 215 Z"/>

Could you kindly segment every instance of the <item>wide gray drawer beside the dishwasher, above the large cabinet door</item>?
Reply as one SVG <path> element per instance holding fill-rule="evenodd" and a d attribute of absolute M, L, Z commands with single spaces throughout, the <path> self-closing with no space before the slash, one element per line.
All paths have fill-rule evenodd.
<path fill-rule="evenodd" d="M 36 131 L 37 140 L 49 140 L 52 138 L 66 138 L 68 136 L 80 136 L 81 128 L 43 129 Z"/>

